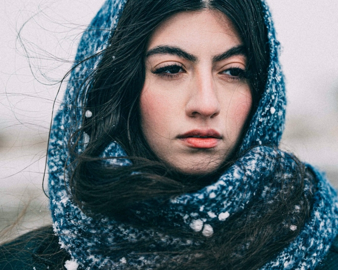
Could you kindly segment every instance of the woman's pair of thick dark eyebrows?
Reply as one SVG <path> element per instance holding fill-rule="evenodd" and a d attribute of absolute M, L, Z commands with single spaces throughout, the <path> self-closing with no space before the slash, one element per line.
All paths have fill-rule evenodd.
<path fill-rule="evenodd" d="M 185 58 L 191 62 L 197 62 L 198 58 L 193 55 L 185 52 L 184 50 L 180 49 L 179 47 L 174 47 L 174 46 L 157 46 L 149 50 L 146 54 L 145 57 L 149 57 L 154 54 L 171 54 L 171 55 L 177 55 L 178 57 Z M 244 55 L 246 56 L 246 50 L 243 45 L 235 46 L 229 49 L 228 51 L 215 55 L 213 57 L 213 62 L 218 62 L 221 60 L 224 60 L 226 58 L 230 58 L 231 56 L 235 55 Z"/>

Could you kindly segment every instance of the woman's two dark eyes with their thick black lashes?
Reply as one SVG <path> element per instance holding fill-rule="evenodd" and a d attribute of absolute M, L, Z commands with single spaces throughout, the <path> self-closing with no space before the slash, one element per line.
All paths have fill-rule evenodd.
<path fill-rule="evenodd" d="M 169 69 L 183 69 L 183 66 L 181 65 L 176 65 L 176 64 L 173 64 L 173 65 L 167 65 L 167 66 L 164 66 L 164 67 L 160 67 L 154 71 L 151 71 L 153 74 L 156 74 L 156 75 L 159 75 L 161 77 L 166 77 L 166 78 L 175 78 L 175 77 L 178 77 L 179 76 L 179 73 L 180 72 L 177 72 L 177 73 L 168 73 Z M 242 81 L 244 79 L 248 79 L 249 78 L 249 74 L 247 72 L 246 69 L 242 69 L 242 68 L 238 68 L 238 67 L 233 67 L 233 68 L 228 68 L 226 70 L 223 70 L 221 71 L 219 74 L 222 74 L 223 72 L 238 72 L 239 75 L 238 76 L 233 76 L 233 75 L 228 75 L 228 74 L 223 74 L 227 77 L 229 77 L 230 80 L 233 80 L 233 81 Z"/>

